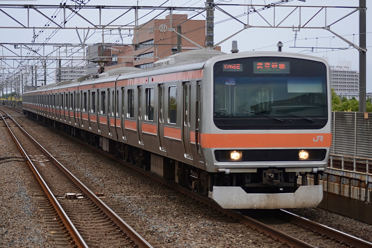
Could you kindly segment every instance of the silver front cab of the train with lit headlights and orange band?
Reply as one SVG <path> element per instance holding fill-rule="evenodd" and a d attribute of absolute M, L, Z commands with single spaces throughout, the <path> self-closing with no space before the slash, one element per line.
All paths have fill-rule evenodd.
<path fill-rule="evenodd" d="M 203 105 L 211 115 L 203 115 L 201 136 L 208 196 L 232 209 L 317 206 L 323 189 L 307 175 L 317 184 L 328 162 L 328 65 L 278 52 L 224 56 L 210 59 L 205 73 L 213 99 Z"/>

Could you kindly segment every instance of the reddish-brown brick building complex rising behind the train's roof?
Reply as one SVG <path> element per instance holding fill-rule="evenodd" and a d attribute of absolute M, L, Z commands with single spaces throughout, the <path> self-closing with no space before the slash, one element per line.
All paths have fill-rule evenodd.
<path fill-rule="evenodd" d="M 181 26 L 181 52 L 205 48 L 205 20 L 189 20 L 187 15 L 167 15 L 165 19 L 153 19 L 134 30 L 132 45 L 95 44 L 86 49 L 88 61 L 108 61 L 105 71 L 118 67 L 151 68 L 154 62 L 177 53 L 177 34 L 171 28 Z M 194 43 L 197 45 L 195 45 Z M 216 50 L 221 51 L 218 46 Z M 102 64 L 102 63 L 101 63 Z M 100 73 L 100 66 L 88 74 Z"/>

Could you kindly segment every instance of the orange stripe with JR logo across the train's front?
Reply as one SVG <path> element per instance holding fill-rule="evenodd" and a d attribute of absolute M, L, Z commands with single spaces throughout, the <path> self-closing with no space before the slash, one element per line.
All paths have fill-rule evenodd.
<path fill-rule="evenodd" d="M 202 133 L 204 148 L 330 147 L 331 133 Z"/>

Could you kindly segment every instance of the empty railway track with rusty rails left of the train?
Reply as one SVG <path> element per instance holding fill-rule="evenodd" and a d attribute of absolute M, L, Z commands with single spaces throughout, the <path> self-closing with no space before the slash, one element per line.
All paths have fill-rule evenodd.
<path fill-rule="evenodd" d="M 0 118 L 6 123 L 22 159 L 33 171 L 43 194 L 48 196 L 55 215 L 52 219 L 59 220 L 61 230 L 73 247 L 152 247 L 15 120 L 3 113 Z"/>

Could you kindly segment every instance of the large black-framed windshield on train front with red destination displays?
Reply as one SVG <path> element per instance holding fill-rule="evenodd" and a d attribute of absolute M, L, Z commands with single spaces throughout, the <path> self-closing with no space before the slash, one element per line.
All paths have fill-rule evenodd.
<path fill-rule="evenodd" d="M 317 129 L 327 113 L 322 62 L 251 57 L 214 65 L 214 122 L 220 129 Z"/>

